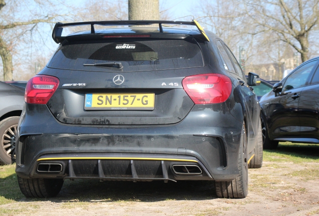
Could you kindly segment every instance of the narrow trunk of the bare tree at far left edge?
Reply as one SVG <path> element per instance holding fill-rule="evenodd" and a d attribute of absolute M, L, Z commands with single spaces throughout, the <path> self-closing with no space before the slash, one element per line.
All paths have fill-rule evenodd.
<path fill-rule="evenodd" d="M 13 80 L 12 55 L 6 42 L 0 36 L 0 55 L 4 65 L 4 81 Z"/>

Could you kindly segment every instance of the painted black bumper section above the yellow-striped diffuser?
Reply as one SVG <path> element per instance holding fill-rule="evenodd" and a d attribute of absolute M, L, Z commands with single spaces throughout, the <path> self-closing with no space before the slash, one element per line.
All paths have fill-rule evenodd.
<path fill-rule="evenodd" d="M 110 153 L 122 152 L 122 157 L 126 157 L 124 155 L 127 152 L 134 153 L 135 157 L 144 153 L 165 154 L 172 158 L 176 155 L 195 156 L 205 163 L 204 167 L 210 173 L 214 173 L 214 179 L 217 180 L 233 178 L 238 172 L 234 169 L 237 160 L 233 158 L 237 157 L 238 154 L 236 146 L 242 127 L 241 124 L 234 123 L 233 115 L 241 116 L 241 119 L 236 119 L 236 121 L 241 122 L 243 114 L 240 112 L 234 112 L 233 115 L 229 113 L 228 119 L 225 118 L 224 113 L 227 113 L 229 109 L 226 103 L 224 105 L 214 104 L 210 107 L 196 105 L 187 119 L 181 123 L 161 125 L 160 127 L 69 126 L 54 120 L 48 107 L 41 106 L 29 105 L 22 115 L 23 122 L 32 122 L 32 124 L 25 128 L 20 127 L 19 133 L 22 143 L 18 145 L 17 151 L 18 154 L 25 156 L 18 157 L 18 164 L 39 163 L 37 161 L 39 157 L 53 153 L 55 155 L 99 153 L 107 157 Z M 41 119 L 37 118 L 39 114 L 41 114 Z M 206 116 L 212 116 L 212 114 L 214 117 L 207 119 Z M 199 121 L 199 119 L 205 120 Z M 39 134 L 39 127 L 42 128 L 41 134 Z M 54 134 L 52 134 L 52 128 L 56 128 Z M 23 148 L 24 142 L 28 143 L 28 148 Z M 214 157 L 212 157 L 212 151 L 217 151 L 218 154 L 214 153 Z M 30 157 L 30 154 L 33 157 Z M 24 170 L 26 167 L 21 168 Z M 30 171 L 28 170 L 28 175 Z M 19 168 L 17 173 L 23 176 L 23 173 L 19 172 Z"/>

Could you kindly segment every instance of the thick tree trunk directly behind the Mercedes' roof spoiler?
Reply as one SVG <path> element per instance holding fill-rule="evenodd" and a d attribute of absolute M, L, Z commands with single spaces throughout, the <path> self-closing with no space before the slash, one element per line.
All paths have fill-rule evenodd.
<path fill-rule="evenodd" d="M 159 20 L 159 0 L 128 0 L 129 20 Z"/>

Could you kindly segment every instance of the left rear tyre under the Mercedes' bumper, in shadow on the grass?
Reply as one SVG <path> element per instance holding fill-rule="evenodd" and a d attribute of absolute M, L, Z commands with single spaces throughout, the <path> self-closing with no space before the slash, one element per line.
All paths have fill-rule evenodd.
<path fill-rule="evenodd" d="M 18 176 L 21 192 L 26 197 L 54 197 L 63 185 L 63 179 L 56 178 L 22 178 Z"/>

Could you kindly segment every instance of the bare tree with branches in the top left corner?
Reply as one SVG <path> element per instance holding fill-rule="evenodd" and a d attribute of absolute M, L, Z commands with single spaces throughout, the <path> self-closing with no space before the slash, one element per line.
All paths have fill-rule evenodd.
<path fill-rule="evenodd" d="M 43 42 L 41 34 L 44 32 L 41 29 L 43 27 L 41 23 L 55 22 L 54 19 L 60 16 L 55 11 L 61 12 L 57 6 L 61 8 L 64 3 L 59 0 L 54 3 L 50 0 L 10 0 L 7 2 L 0 0 L 0 19 L 2 20 L 0 22 L 0 56 L 2 57 L 4 80 L 14 78 L 13 59 L 15 55 L 21 54 L 23 50 L 24 58 L 27 58 L 28 53 L 23 48 L 28 44 L 32 46 Z M 35 40 L 37 42 L 34 42 Z"/>

